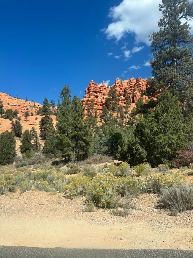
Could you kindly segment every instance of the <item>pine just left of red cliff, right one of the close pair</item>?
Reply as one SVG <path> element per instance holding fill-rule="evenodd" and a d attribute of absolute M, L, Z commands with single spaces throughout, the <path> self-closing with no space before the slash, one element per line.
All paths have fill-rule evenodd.
<path fill-rule="evenodd" d="M 73 97 L 72 100 L 72 120 L 70 139 L 74 145 L 75 161 L 84 160 L 88 157 L 91 142 L 91 130 L 83 122 L 84 109 L 80 98 Z"/>

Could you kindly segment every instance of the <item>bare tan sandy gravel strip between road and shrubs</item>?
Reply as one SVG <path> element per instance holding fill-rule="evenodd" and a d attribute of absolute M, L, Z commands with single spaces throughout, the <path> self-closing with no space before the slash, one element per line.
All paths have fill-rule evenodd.
<path fill-rule="evenodd" d="M 177 217 L 154 212 L 158 198 L 142 194 L 126 217 L 84 212 L 85 198 L 29 191 L 0 196 L 0 245 L 104 249 L 193 249 L 193 210 Z"/>

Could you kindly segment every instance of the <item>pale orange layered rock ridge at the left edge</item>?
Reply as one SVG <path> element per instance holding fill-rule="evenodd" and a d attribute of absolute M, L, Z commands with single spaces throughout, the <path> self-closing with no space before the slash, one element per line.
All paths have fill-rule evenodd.
<path fill-rule="evenodd" d="M 38 108 L 42 107 L 42 105 L 39 103 L 32 103 L 31 101 L 25 101 L 24 99 L 13 98 L 4 92 L 0 93 L 0 99 L 3 102 L 4 110 L 12 108 L 14 111 L 17 109 L 19 111 L 19 115 L 21 116 L 23 116 L 27 110 L 30 114 L 33 112 L 35 115 Z"/>

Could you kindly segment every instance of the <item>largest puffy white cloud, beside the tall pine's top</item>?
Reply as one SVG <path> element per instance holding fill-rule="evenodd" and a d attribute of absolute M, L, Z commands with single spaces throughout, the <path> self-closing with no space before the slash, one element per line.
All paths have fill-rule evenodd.
<path fill-rule="evenodd" d="M 111 7 L 108 16 L 113 22 L 103 29 L 107 38 L 116 38 L 118 41 L 126 34 L 133 33 L 136 42 L 150 45 L 148 35 L 159 29 L 157 22 L 162 15 L 159 11 L 160 2 L 161 0 L 123 0 L 118 6 Z M 193 33 L 193 21 L 188 23 Z"/>

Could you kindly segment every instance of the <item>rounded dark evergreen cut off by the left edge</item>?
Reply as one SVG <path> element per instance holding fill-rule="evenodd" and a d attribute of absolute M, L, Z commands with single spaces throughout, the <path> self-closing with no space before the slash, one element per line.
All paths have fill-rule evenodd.
<path fill-rule="evenodd" d="M 16 156 L 16 140 L 13 132 L 3 132 L 0 135 L 0 165 L 13 162 Z"/>

